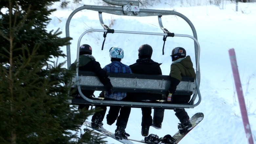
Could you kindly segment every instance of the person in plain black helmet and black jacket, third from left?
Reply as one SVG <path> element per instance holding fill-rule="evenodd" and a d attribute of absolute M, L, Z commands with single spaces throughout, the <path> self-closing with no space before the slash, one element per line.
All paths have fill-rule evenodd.
<path fill-rule="evenodd" d="M 133 73 L 138 74 L 149 74 L 149 75 L 161 75 L 162 71 L 159 63 L 154 62 L 151 59 L 153 49 L 150 45 L 144 44 L 139 47 L 139 59 L 136 60 L 136 63 L 130 65 Z M 160 100 L 162 99 L 161 94 L 149 94 L 149 93 L 128 93 L 133 101 L 136 100 Z M 136 96 L 138 95 L 138 96 Z M 149 132 L 149 127 L 152 125 L 152 116 L 151 108 L 141 108 L 142 111 L 142 120 L 141 120 L 141 135 L 147 136 Z M 153 123 L 162 123 L 164 109 L 154 109 L 154 121 Z M 156 118 L 158 117 L 158 118 Z M 161 119 L 162 118 L 162 119 Z"/>

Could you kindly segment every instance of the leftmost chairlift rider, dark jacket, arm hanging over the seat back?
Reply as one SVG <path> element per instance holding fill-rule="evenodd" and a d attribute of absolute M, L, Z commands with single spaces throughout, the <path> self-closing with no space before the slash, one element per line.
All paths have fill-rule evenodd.
<path fill-rule="evenodd" d="M 71 70 L 75 70 L 75 63 L 71 64 Z M 108 78 L 108 75 L 106 74 L 106 71 L 104 71 L 101 67 L 99 62 L 97 62 L 92 56 L 92 47 L 88 44 L 83 44 L 79 48 L 79 64 L 78 64 L 78 70 L 79 71 L 91 71 L 95 72 L 98 76 L 99 80 L 102 82 L 102 84 L 107 88 L 109 92 L 113 91 L 113 86 L 110 82 L 110 79 Z M 82 90 L 82 93 L 90 98 L 93 96 L 94 91 L 90 90 Z M 72 94 L 74 97 L 81 97 L 78 91 L 75 91 L 75 93 Z M 89 109 L 90 105 L 87 104 L 80 104 L 78 105 L 78 109 Z M 106 109 L 103 111 L 106 112 Z"/>

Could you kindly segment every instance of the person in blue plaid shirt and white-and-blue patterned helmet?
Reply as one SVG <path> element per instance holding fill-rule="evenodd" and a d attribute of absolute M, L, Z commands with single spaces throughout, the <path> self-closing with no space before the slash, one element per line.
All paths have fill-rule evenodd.
<path fill-rule="evenodd" d="M 132 73 L 132 70 L 129 66 L 121 63 L 121 60 L 124 56 L 122 48 L 112 47 L 109 50 L 109 54 L 111 58 L 111 63 L 106 65 L 103 70 L 108 73 Z M 104 92 L 105 99 L 124 100 L 126 95 L 126 92 Z M 127 139 L 127 136 L 130 136 L 125 132 L 130 112 L 131 107 L 110 106 L 109 108 L 109 112 L 107 114 L 107 124 L 112 125 L 117 120 L 117 129 L 115 130 L 115 137 L 117 139 Z M 101 124 L 103 117 L 104 114 L 95 113 L 92 118 L 92 127 L 94 127 L 94 125 L 96 125 L 97 127 L 99 124 Z"/>

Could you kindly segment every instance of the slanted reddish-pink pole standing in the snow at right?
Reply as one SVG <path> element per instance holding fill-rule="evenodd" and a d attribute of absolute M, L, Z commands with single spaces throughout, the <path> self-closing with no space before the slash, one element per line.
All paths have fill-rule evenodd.
<path fill-rule="evenodd" d="M 237 66 L 237 61 L 236 61 L 236 53 L 235 50 L 229 49 L 229 58 L 231 62 L 231 67 L 232 67 L 232 72 L 234 76 L 234 81 L 235 81 L 235 86 L 236 86 L 236 92 L 238 96 L 238 101 L 239 101 L 239 106 L 240 106 L 240 111 L 242 114 L 242 119 L 243 119 L 243 124 L 245 128 L 245 134 L 248 139 L 249 144 L 253 144 L 253 138 L 252 138 L 252 133 L 251 133 L 251 128 L 248 120 L 248 115 L 247 115 L 247 110 L 245 106 L 245 99 L 244 99 L 244 94 L 243 94 L 243 89 L 240 81 L 240 76 L 238 72 L 238 66 Z"/>

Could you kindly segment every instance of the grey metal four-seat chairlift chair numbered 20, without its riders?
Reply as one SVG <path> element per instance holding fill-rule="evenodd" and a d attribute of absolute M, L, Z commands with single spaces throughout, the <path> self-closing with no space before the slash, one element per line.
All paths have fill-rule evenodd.
<path fill-rule="evenodd" d="M 163 109 L 175 109 L 175 108 L 194 108 L 201 102 L 201 94 L 199 90 L 200 85 L 200 46 L 197 41 L 197 33 L 192 22 L 185 17 L 183 14 L 173 10 L 154 10 L 154 9 L 140 9 L 138 1 L 129 0 L 103 0 L 104 2 L 115 5 L 115 6 L 95 6 L 95 5 L 84 5 L 75 9 L 68 17 L 66 22 L 66 37 L 70 36 L 69 27 L 70 21 L 76 12 L 80 10 L 94 10 L 98 11 L 99 22 L 103 27 L 100 29 L 89 29 L 84 31 L 78 39 L 77 43 L 77 58 L 76 58 L 76 74 L 72 78 L 70 83 L 73 88 L 77 88 L 81 97 L 76 97 L 70 100 L 73 105 L 78 104 L 91 104 L 93 105 L 106 105 L 106 106 L 129 106 L 129 107 L 151 107 L 151 108 L 163 108 Z M 104 24 L 102 19 L 102 13 L 109 13 L 122 16 L 135 16 L 135 17 L 147 17 L 157 16 L 160 29 L 163 33 L 157 32 L 141 32 L 141 31 L 121 31 L 110 29 Z M 175 34 L 168 31 L 162 25 L 163 15 L 176 15 L 184 19 L 190 26 L 193 36 L 187 34 Z M 196 61 L 196 78 L 182 77 L 180 84 L 177 86 L 175 94 L 180 95 L 191 95 L 192 98 L 188 103 L 169 103 L 165 100 L 151 101 L 151 102 L 134 102 L 134 101 L 116 101 L 116 100 L 102 100 L 99 98 L 88 98 L 82 90 L 94 90 L 94 91 L 106 91 L 103 84 L 99 81 L 98 77 L 94 72 L 81 72 L 78 70 L 79 63 L 79 47 L 82 37 L 88 32 L 104 32 L 107 33 L 128 33 L 128 34 L 143 34 L 143 35 L 159 35 L 163 37 L 187 37 L 194 41 L 195 48 L 195 61 Z M 105 37 L 105 36 L 104 36 Z M 104 39 L 105 41 L 105 39 Z M 104 45 L 102 44 L 102 49 Z M 67 45 L 67 65 L 71 67 L 71 53 L 70 45 Z M 128 92 L 128 93 L 156 93 L 166 94 L 170 86 L 169 75 L 143 75 L 143 74 L 128 74 L 128 73 L 108 73 L 111 83 L 114 87 L 114 91 L 117 92 Z M 196 101 L 197 100 L 197 101 Z M 196 103 L 195 103 L 196 101 Z"/>

